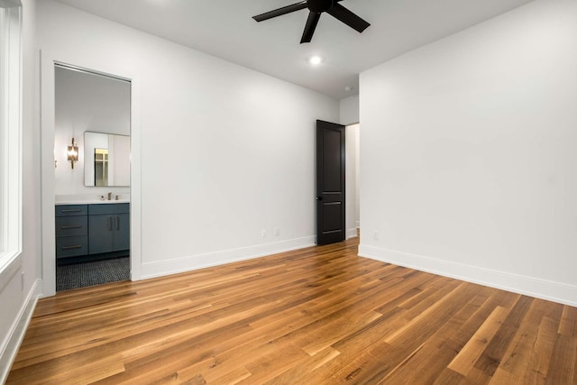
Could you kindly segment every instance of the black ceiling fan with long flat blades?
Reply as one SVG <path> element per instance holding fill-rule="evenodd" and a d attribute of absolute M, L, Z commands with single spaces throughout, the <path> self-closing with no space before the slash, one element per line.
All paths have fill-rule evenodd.
<path fill-rule="evenodd" d="M 262 22 L 264 20 L 272 19 L 273 17 L 282 16 L 283 14 L 290 14 L 291 12 L 300 11 L 301 9 L 308 8 L 308 19 L 305 25 L 305 31 L 300 39 L 300 43 L 310 42 L 313 39 L 313 34 L 316 30 L 316 24 L 321 18 L 321 14 L 327 13 L 333 16 L 335 19 L 347 24 L 349 27 L 353 28 L 358 32 L 363 32 L 367 29 L 370 23 L 362 20 L 356 14 L 340 5 L 339 2 L 343 0 L 305 0 L 300 1 L 293 5 L 283 6 L 282 8 L 275 9 L 274 11 L 265 12 L 264 14 L 257 14 L 252 16 L 257 22 Z"/>

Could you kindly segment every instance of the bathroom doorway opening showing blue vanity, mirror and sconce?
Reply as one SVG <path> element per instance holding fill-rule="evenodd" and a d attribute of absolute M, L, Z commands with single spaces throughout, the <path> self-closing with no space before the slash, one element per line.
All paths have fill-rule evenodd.
<path fill-rule="evenodd" d="M 131 82 L 54 71 L 56 291 L 130 280 Z"/>

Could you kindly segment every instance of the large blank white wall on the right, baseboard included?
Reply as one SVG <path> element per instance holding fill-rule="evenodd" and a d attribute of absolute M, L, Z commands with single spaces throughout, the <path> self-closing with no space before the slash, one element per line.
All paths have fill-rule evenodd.
<path fill-rule="evenodd" d="M 363 72 L 361 254 L 577 305 L 575 47 L 536 1 Z"/>

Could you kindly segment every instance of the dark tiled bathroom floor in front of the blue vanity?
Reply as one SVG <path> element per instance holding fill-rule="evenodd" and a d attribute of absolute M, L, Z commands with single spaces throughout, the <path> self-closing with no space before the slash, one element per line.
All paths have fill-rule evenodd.
<path fill-rule="evenodd" d="M 56 268 L 56 291 L 130 280 L 130 258 L 89 261 Z"/>

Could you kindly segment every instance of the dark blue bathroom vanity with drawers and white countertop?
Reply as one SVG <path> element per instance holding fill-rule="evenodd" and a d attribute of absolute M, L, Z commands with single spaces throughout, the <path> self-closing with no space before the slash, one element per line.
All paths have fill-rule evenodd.
<path fill-rule="evenodd" d="M 130 203 L 57 204 L 56 261 L 96 261 L 130 254 Z"/>

